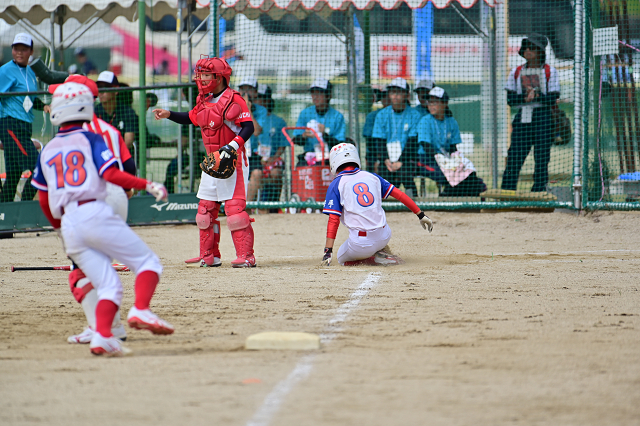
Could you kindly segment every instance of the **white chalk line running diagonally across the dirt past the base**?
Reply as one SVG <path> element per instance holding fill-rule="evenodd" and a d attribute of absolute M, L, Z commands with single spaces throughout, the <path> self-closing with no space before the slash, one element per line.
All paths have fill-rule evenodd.
<path fill-rule="evenodd" d="M 335 339 L 340 332 L 340 325 L 347 319 L 349 313 L 355 309 L 360 301 L 369 294 L 369 291 L 380 280 L 381 274 L 379 272 L 370 273 L 367 278 L 358 286 L 356 291 L 351 294 L 349 300 L 343 303 L 331 320 L 325 327 L 325 330 L 320 334 L 320 341 L 326 345 Z M 253 415 L 253 418 L 247 422 L 247 426 L 267 426 L 280 410 L 280 406 L 284 402 L 287 395 L 293 390 L 293 388 L 309 376 L 313 369 L 313 361 L 317 353 L 304 356 L 293 371 L 287 375 L 284 380 L 281 380 L 265 397 L 262 405 Z"/>

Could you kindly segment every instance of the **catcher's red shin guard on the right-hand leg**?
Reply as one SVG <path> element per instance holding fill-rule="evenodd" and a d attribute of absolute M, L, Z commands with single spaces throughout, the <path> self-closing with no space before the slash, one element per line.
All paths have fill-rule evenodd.
<path fill-rule="evenodd" d="M 237 259 L 231 262 L 234 268 L 251 268 L 256 266 L 256 258 L 253 255 L 253 219 L 244 210 L 244 200 L 229 200 L 225 204 L 227 213 L 227 226 L 231 231 L 233 245 L 236 247 Z"/>

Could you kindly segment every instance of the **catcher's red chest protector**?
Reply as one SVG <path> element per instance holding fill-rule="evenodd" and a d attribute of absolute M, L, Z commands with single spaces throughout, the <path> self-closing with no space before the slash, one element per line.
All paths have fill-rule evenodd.
<path fill-rule="evenodd" d="M 212 104 L 207 101 L 200 101 L 196 105 L 196 120 L 202 130 L 202 141 L 207 154 L 219 150 L 236 137 L 235 132 L 224 124 L 225 119 L 233 121 L 237 118 L 231 117 L 232 119 L 229 120 L 229 117 L 225 117 L 229 107 L 233 104 L 231 102 L 233 95 L 236 93 L 238 92 L 235 90 L 227 89 L 220 96 L 217 103 Z"/>

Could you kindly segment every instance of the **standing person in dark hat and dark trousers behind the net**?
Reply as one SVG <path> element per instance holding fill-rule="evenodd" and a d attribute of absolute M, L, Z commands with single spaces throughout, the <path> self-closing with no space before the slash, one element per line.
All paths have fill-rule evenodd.
<path fill-rule="evenodd" d="M 513 119 L 507 166 L 502 189 L 515 191 L 520 170 L 533 147 L 535 166 L 531 192 L 547 190 L 554 125 L 551 108 L 560 97 L 558 71 L 546 63 L 547 38 L 531 34 L 522 40 L 520 56 L 526 64 L 511 70 L 507 79 L 507 103 L 519 111 Z"/>

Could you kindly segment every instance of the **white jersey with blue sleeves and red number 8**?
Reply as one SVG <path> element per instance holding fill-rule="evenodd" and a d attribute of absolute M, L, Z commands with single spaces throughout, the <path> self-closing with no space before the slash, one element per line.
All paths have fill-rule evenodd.
<path fill-rule="evenodd" d="M 341 216 L 350 229 L 372 231 L 387 224 L 382 200 L 394 186 L 380 176 L 360 169 L 338 173 L 329 185 L 323 213 Z"/>

